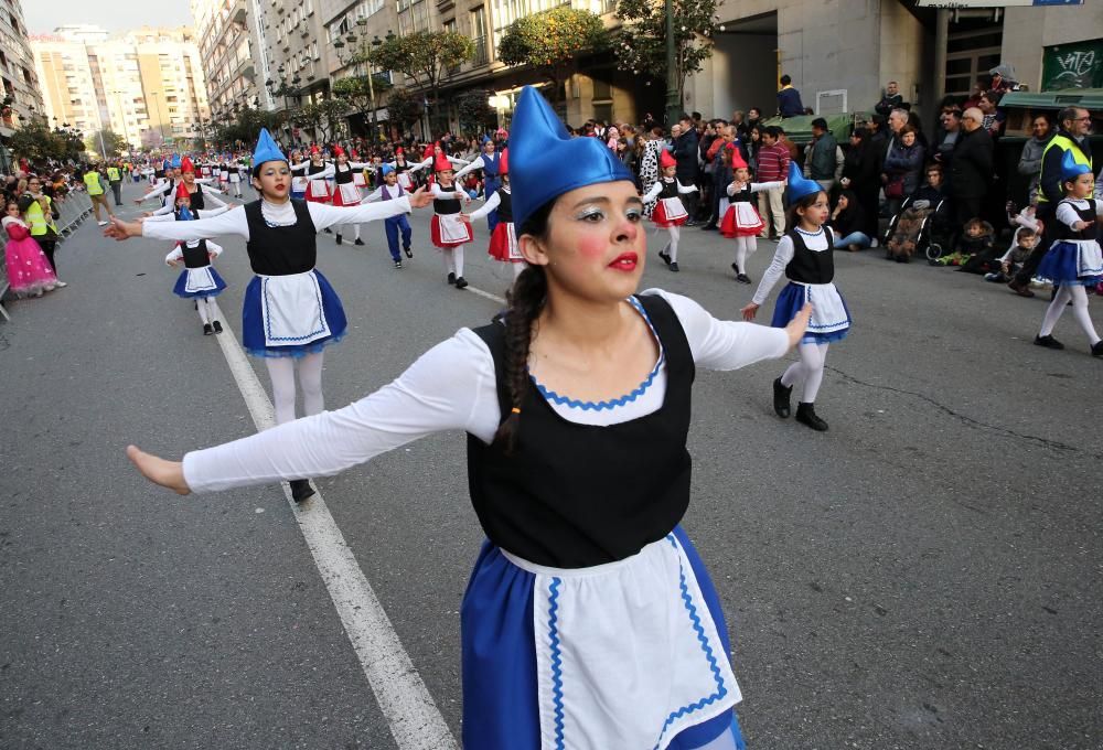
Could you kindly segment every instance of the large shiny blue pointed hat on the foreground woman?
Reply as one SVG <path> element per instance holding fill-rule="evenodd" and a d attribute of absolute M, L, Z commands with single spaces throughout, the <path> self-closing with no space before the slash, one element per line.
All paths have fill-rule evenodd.
<path fill-rule="evenodd" d="M 524 226 L 548 201 L 577 188 L 633 181 L 620 159 L 597 138 L 571 138 L 552 106 L 525 86 L 510 133 L 510 182 L 513 221 Z"/>

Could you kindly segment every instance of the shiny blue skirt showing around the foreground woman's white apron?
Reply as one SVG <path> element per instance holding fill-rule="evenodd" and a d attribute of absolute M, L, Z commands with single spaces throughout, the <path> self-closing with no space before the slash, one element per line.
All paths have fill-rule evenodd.
<path fill-rule="evenodd" d="M 673 534 L 689 559 L 727 657 L 731 644 L 713 581 L 682 527 L 675 527 Z M 506 559 L 495 545 L 483 543 L 460 610 L 464 748 L 540 748 L 534 585 L 532 572 Z M 690 750 L 726 731 L 743 750 L 733 711 L 679 732 L 668 747 Z"/>

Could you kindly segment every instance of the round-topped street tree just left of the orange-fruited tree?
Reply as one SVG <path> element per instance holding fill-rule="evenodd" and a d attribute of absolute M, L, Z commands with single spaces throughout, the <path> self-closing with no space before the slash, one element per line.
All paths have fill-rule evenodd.
<path fill-rule="evenodd" d="M 430 111 L 439 118 L 440 83 L 449 68 L 471 60 L 475 43 L 456 31 L 418 31 L 407 36 L 389 36 L 371 50 L 368 60 L 384 71 L 398 71 L 415 88 L 430 93 Z"/>

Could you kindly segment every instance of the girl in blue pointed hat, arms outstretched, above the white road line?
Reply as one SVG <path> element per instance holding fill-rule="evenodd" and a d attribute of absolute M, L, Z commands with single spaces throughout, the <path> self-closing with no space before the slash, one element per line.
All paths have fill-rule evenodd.
<path fill-rule="evenodd" d="M 227 211 L 195 222 L 122 222 L 105 231 L 116 239 L 196 240 L 233 234 L 245 237 L 249 264 L 257 276 L 245 292 L 242 344 L 265 358 L 272 381 L 276 421 L 295 419 L 296 364 L 303 407 L 308 415 L 322 411 L 322 353 L 339 341 L 346 321 L 333 287 L 314 269 L 317 232 L 334 224 L 370 222 L 429 204 L 418 192 L 382 203 L 334 208 L 318 202 L 288 197 L 291 172 L 276 141 L 261 129 L 253 163 L 253 185 L 260 200 L 242 211 Z M 291 494 L 302 501 L 313 494 L 307 480 L 296 480 Z"/>

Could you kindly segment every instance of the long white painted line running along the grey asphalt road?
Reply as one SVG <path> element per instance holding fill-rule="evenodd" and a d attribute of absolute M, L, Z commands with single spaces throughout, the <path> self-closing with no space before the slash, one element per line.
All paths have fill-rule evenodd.
<path fill-rule="evenodd" d="M 258 430 L 274 427 L 276 420 L 268 394 L 245 357 L 237 336 L 228 324 L 223 322 L 223 325 L 224 332 L 216 338 L 253 421 Z M 291 490 L 286 484 L 283 494 L 399 750 L 456 750 L 456 740 L 445 718 L 403 649 L 321 492 L 302 505 L 291 500 Z"/>

